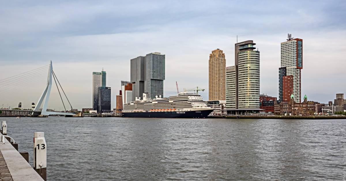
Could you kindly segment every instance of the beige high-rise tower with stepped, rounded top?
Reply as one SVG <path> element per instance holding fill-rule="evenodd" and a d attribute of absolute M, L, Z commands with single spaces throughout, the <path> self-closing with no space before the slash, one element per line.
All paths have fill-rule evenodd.
<path fill-rule="evenodd" d="M 226 58 L 220 49 L 209 55 L 209 100 L 226 100 Z"/>

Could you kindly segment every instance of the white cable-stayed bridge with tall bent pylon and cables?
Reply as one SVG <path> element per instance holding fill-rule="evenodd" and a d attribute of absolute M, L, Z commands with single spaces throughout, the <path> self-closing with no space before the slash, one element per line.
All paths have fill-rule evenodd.
<path fill-rule="evenodd" d="M 11 76 L 8 78 L 4 78 L 4 79 L 0 79 L 0 106 L 1 102 L 4 102 L 4 99 L 12 99 L 15 97 L 18 97 L 20 95 L 25 95 L 25 86 L 29 86 L 32 85 L 32 82 L 29 82 L 30 79 L 35 79 L 36 77 L 38 77 L 39 75 L 45 75 L 47 72 L 48 68 L 48 77 L 47 77 L 47 85 L 45 86 L 45 88 L 43 89 L 43 92 L 41 94 L 41 96 L 38 98 L 36 104 L 35 104 L 35 108 L 31 109 L 31 110 L 21 110 L 21 109 L 15 109 L 15 108 L 0 108 L 1 111 L 25 111 L 25 112 L 29 112 L 31 116 L 39 116 L 39 115 L 44 115 L 44 116 L 49 116 L 49 115 L 65 115 L 65 116 L 73 116 L 76 115 L 76 113 L 73 112 L 68 112 L 66 110 L 65 104 L 63 102 L 63 95 L 66 97 L 67 102 L 69 103 L 70 107 L 71 107 L 71 111 L 73 110 L 72 105 L 69 101 L 69 99 L 67 98 L 64 89 L 62 88 L 60 82 L 58 81 L 54 71 L 53 71 L 53 65 L 52 65 L 52 61 L 50 62 L 49 65 L 46 65 L 44 67 L 40 67 L 40 68 L 36 68 L 34 70 L 25 72 L 25 73 L 21 73 L 15 76 Z M 52 111 L 51 109 L 48 109 L 48 102 L 49 102 L 49 96 L 51 94 L 51 89 L 53 86 L 53 81 L 58 89 L 58 93 L 60 95 L 61 101 L 63 103 L 64 109 L 65 111 Z M 15 86 L 11 86 L 9 84 L 16 84 Z M 58 86 L 59 85 L 59 86 Z M 21 90 L 20 93 L 15 93 L 14 95 L 11 94 L 15 89 L 18 89 L 18 87 L 20 87 L 19 89 Z M 62 92 L 60 92 L 60 89 L 62 90 Z M 25 96 L 30 96 L 30 95 L 25 95 Z M 64 98 L 65 98 L 64 97 Z M 42 109 L 40 109 L 40 107 L 42 106 Z M 3 105 L 2 105 L 3 107 Z"/>

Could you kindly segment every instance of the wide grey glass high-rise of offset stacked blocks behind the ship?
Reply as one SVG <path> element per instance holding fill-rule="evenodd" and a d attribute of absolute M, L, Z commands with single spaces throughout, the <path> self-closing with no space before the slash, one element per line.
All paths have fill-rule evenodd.
<path fill-rule="evenodd" d="M 146 56 L 133 58 L 130 62 L 132 100 L 134 101 L 136 97 L 141 97 L 143 93 L 150 93 L 152 99 L 156 95 L 163 95 L 165 55 L 154 52 Z"/>

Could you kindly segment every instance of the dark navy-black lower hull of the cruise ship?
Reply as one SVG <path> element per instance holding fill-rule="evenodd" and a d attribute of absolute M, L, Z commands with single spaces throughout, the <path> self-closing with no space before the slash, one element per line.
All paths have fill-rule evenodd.
<path fill-rule="evenodd" d="M 122 117 L 130 118 L 206 118 L 213 109 L 170 112 L 132 112 L 122 113 Z"/>

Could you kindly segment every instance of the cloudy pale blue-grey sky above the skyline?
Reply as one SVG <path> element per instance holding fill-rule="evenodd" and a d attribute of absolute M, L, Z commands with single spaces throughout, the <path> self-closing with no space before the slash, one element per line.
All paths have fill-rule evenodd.
<path fill-rule="evenodd" d="M 234 44 L 260 51 L 261 94 L 278 97 L 280 43 L 303 39 L 302 97 L 327 103 L 346 94 L 346 1 L 1 1 L 1 79 L 53 62 L 73 108 L 92 107 L 92 72 L 107 72 L 112 108 L 130 79 L 130 59 L 166 55 L 164 96 L 200 87 L 208 99 L 208 60 L 221 49 L 234 65 Z M 37 102 L 46 77 L 2 93 L 0 103 Z M 30 87 L 31 86 L 31 87 Z M 1 93 L 1 87 L 0 87 Z M 2 100 L 1 100 L 2 99 Z M 65 103 L 66 105 L 67 103 Z M 1 106 L 1 104 L 0 104 Z M 63 109 L 56 87 L 49 107 Z"/>

